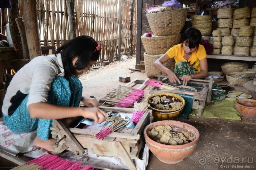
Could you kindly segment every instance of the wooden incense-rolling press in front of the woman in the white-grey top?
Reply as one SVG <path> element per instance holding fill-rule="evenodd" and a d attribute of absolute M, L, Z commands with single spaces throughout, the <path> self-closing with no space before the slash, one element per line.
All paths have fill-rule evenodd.
<path fill-rule="evenodd" d="M 133 108 L 100 108 L 105 112 L 120 114 L 126 119 L 129 119 L 133 112 Z M 65 126 L 60 120 L 55 120 L 52 122 L 51 130 L 52 136 L 57 138 L 58 142 L 54 144 L 55 150 L 52 154 L 58 155 L 64 150 L 71 150 L 76 156 L 81 156 L 85 152 L 84 149 L 87 149 L 89 154 L 97 156 L 121 157 L 128 169 L 135 170 L 133 159 L 138 159 L 141 150 L 144 149 L 143 129 L 149 124 L 149 118 L 147 110 L 137 124 L 130 122 L 102 140 L 97 140 L 95 135 L 100 132 L 104 122 L 96 126 L 93 120 L 79 117 Z"/>

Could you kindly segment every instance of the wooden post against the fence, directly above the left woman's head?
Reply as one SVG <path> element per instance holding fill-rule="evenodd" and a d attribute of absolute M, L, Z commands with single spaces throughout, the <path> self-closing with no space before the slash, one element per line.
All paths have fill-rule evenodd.
<path fill-rule="evenodd" d="M 75 38 L 74 0 L 67 0 L 67 7 L 69 13 L 69 35 L 70 39 L 73 39 Z"/>

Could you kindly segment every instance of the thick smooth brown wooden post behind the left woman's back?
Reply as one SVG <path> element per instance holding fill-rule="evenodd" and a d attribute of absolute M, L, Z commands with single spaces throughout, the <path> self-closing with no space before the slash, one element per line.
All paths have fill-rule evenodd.
<path fill-rule="evenodd" d="M 36 16 L 36 1 L 23 1 L 22 18 L 25 25 L 30 60 L 42 55 Z"/>

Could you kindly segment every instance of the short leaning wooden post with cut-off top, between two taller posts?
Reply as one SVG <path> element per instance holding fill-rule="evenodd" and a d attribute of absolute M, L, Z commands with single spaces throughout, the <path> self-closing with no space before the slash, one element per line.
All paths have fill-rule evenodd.
<path fill-rule="evenodd" d="M 20 32 L 20 38 L 22 41 L 22 48 L 23 48 L 23 59 L 29 59 L 29 48 L 28 48 L 28 43 L 27 43 L 27 38 L 26 38 L 26 31 L 25 31 L 25 25 L 23 18 L 16 18 L 15 19 L 17 23 L 17 27 Z"/>

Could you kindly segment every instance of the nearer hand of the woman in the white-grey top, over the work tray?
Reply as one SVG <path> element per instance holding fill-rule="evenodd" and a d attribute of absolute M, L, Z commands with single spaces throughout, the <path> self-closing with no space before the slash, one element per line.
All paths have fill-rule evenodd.
<path fill-rule="evenodd" d="M 106 113 L 98 107 L 83 107 L 82 116 L 94 120 L 94 124 L 102 123 L 106 119 Z"/>

